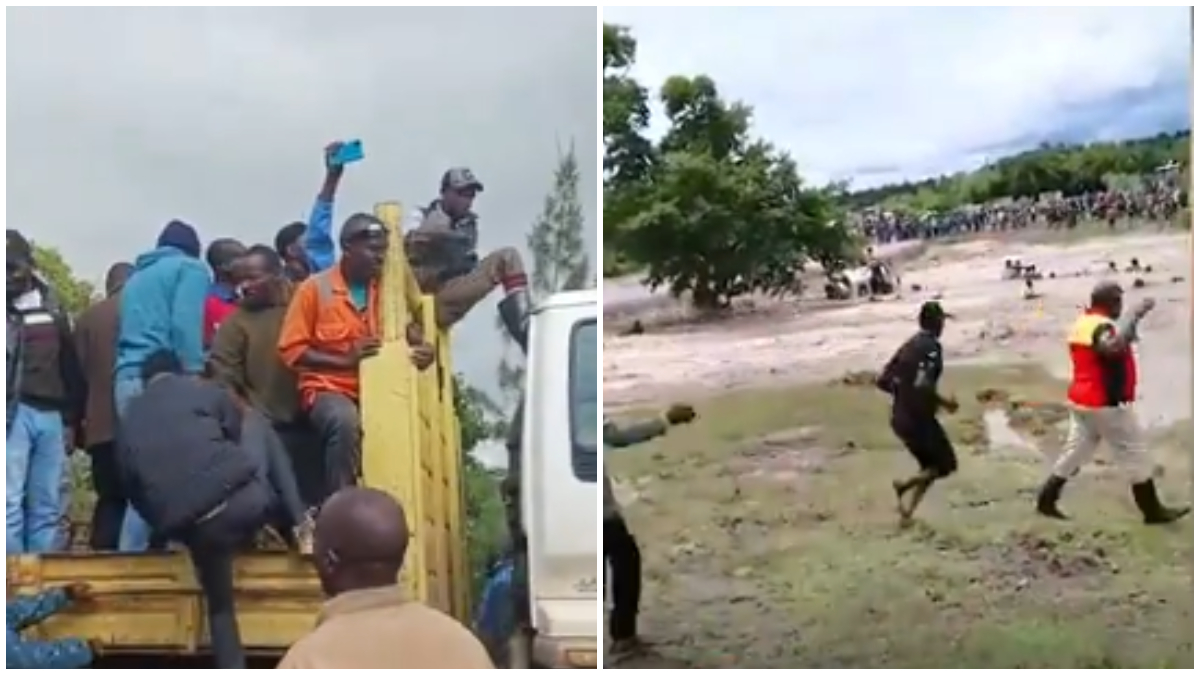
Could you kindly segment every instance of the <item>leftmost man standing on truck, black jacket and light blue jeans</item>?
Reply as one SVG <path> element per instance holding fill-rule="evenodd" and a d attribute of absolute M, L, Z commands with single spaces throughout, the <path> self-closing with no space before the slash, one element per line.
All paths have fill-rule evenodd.
<path fill-rule="evenodd" d="M 34 247 L 19 232 L 5 233 L 5 292 L 10 395 L 16 393 L 5 438 L 5 522 L 10 555 L 50 552 L 60 542 L 67 430 L 85 396 L 71 318 L 35 271 Z"/>

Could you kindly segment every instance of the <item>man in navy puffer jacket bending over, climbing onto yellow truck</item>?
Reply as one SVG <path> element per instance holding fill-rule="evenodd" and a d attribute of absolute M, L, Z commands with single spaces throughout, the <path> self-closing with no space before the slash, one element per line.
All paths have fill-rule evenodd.
<path fill-rule="evenodd" d="M 184 375 L 172 352 L 142 368 L 145 390 L 118 431 L 130 503 L 157 539 L 187 546 L 204 591 L 216 668 L 246 668 L 233 560 L 269 519 L 270 484 L 239 444 L 242 416 L 218 386 Z"/>

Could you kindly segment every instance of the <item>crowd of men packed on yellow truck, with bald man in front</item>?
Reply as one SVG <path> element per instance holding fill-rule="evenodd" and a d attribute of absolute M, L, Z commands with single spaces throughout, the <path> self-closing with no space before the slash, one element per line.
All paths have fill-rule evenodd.
<path fill-rule="evenodd" d="M 7 231 L 7 551 L 72 544 L 60 527 L 62 486 L 67 453 L 79 447 L 97 496 L 88 545 L 185 546 L 217 668 L 245 667 L 233 558 L 266 526 L 312 556 L 336 596 L 317 634 L 286 663 L 490 667 L 466 629 L 404 603 L 395 589 L 407 525 L 390 497 L 356 488 L 359 365 L 380 350 L 379 277 L 390 246 L 404 246 L 421 291 L 433 295 L 437 328 L 499 287 L 500 317 L 524 347 L 522 261 L 514 249 L 476 252 L 472 208 L 484 185 L 466 168 L 445 172 L 440 195 L 403 241 L 365 213 L 350 215 L 335 239 L 344 172 L 336 153 L 337 144 L 325 149 L 308 222 L 284 226 L 274 245 L 216 239 L 205 247 L 194 227 L 172 221 L 132 264 L 110 267 L 106 297 L 77 321 L 38 271 L 30 240 Z M 424 327 L 409 323 L 406 338 L 413 364 L 428 368 L 436 354 Z M 334 628 L 335 615 L 344 628 Z M 10 656 L 12 616 L 10 608 Z M 419 634 L 424 643 L 406 644 L 424 646 L 397 656 L 394 640 L 382 638 L 366 652 L 335 649 L 361 644 L 336 635 L 380 629 Z M 78 644 L 58 646 L 78 655 Z M 61 663 L 32 667 L 71 667 Z"/>

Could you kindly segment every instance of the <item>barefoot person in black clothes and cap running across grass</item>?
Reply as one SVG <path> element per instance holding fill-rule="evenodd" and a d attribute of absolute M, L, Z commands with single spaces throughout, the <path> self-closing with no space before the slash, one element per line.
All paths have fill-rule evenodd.
<path fill-rule="evenodd" d="M 923 304 L 917 317 L 920 329 L 896 350 L 876 381 L 876 387 L 892 396 L 893 432 L 920 467 L 916 476 L 892 483 L 901 526 L 912 524 L 929 488 L 959 467 L 954 446 L 937 420 L 940 411 L 953 414 L 959 408 L 958 401 L 937 392 L 944 368 L 941 336 L 947 318 L 941 304 Z"/>

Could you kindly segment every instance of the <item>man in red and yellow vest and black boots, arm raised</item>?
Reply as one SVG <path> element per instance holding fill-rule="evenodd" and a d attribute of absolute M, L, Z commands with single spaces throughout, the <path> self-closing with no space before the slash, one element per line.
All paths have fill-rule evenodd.
<path fill-rule="evenodd" d="M 1038 494 L 1038 513 L 1048 518 L 1067 518 L 1058 509 L 1062 490 L 1092 459 L 1102 441 L 1108 442 L 1117 464 L 1129 472 L 1134 502 L 1147 525 L 1175 522 L 1192 512 L 1190 507 L 1164 507 L 1158 500 L 1154 470 L 1133 410 L 1138 394 L 1133 344 L 1138 341 L 1138 323 L 1154 309 L 1154 300 L 1145 298 L 1122 316 L 1123 299 L 1124 292 L 1115 281 L 1098 283 L 1092 289 L 1091 305 L 1068 336 L 1070 428 L 1067 447 Z"/>

